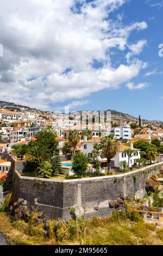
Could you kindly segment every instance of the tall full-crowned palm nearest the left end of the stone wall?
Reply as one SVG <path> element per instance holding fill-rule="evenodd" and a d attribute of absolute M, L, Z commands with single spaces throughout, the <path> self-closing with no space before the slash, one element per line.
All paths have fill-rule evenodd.
<path fill-rule="evenodd" d="M 37 176 L 37 168 L 43 160 L 47 160 L 47 153 L 44 147 L 35 145 L 30 147 L 26 153 L 26 160 L 35 167 L 35 176 Z"/>

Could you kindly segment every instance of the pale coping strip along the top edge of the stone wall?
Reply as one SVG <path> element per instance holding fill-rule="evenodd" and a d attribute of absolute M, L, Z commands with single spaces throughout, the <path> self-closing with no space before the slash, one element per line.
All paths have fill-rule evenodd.
<path fill-rule="evenodd" d="M 15 159 L 13 160 L 15 161 Z M 126 176 L 141 173 L 141 172 L 144 172 L 145 170 L 148 170 L 150 168 L 157 167 L 157 166 L 163 166 L 163 162 L 155 163 L 155 164 L 152 164 L 151 166 L 143 167 L 139 170 L 133 170 L 128 173 L 108 175 L 108 176 L 98 176 L 98 177 L 91 177 L 91 178 L 79 178 L 74 180 L 54 180 L 54 179 L 45 179 L 45 178 L 37 178 L 37 177 L 26 177 L 26 176 L 22 176 L 17 170 L 15 170 L 15 173 L 22 180 L 48 181 L 48 182 L 58 182 L 58 183 L 75 183 L 75 182 L 79 183 L 82 181 L 104 180 L 104 179 L 111 179 L 111 178 L 125 178 Z"/>

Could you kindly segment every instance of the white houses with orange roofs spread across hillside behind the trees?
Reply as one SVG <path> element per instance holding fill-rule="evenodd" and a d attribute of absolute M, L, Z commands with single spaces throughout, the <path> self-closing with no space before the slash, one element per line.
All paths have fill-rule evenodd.
<path fill-rule="evenodd" d="M 13 144 L 27 144 L 40 131 L 52 126 L 57 133 L 56 141 L 58 142 L 57 151 L 59 155 L 63 155 L 62 148 L 65 142 L 68 142 L 68 135 L 71 130 L 77 130 L 82 133 L 86 128 L 92 131 L 92 139 L 87 139 L 85 136 L 75 149 L 76 152 L 83 152 L 89 158 L 92 157 L 93 146 L 101 142 L 101 137 L 114 133 L 115 137 L 120 140 L 121 147 L 118 154 L 111 160 L 111 166 L 119 167 L 121 161 L 128 162 L 128 156 L 124 152 L 129 147 L 125 143 L 131 142 L 131 149 L 135 150 L 135 155 L 130 159 L 130 167 L 136 164 L 136 160 L 140 159 L 140 150 L 133 148 L 133 143 L 140 139 L 145 139 L 149 142 L 153 138 L 158 138 L 160 141 L 163 137 L 163 130 L 158 127 L 148 129 L 146 126 L 141 129 L 140 134 L 134 136 L 134 129 L 131 129 L 130 123 L 120 122 L 117 127 L 112 127 L 111 124 L 85 124 L 80 118 L 70 118 L 69 115 L 64 114 L 44 114 L 8 111 L 7 109 L 0 109 L 0 160 L 1 156 L 11 153 L 11 146 Z M 137 128 L 139 130 L 140 128 Z M 4 161 L 4 160 L 3 160 Z M 104 159 L 103 164 L 106 163 Z M 0 163 L 0 173 L 8 172 L 9 163 Z"/>

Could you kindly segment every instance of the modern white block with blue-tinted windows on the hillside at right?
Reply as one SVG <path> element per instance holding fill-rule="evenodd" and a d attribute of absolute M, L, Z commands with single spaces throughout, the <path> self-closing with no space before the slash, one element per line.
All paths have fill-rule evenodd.
<path fill-rule="evenodd" d="M 131 129 L 126 126 L 111 128 L 111 133 L 114 133 L 116 139 L 131 139 Z"/>

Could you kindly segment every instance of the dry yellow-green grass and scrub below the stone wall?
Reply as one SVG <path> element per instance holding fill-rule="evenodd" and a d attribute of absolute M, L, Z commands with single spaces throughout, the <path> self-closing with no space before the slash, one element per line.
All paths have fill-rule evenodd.
<path fill-rule="evenodd" d="M 116 215 L 114 218 L 92 217 L 87 225 L 82 218 L 78 223 L 60 221 L 57 231 L 56 221 L 50 221 L 49 238 L 43 237 L 43 223 L 37 227 L 31 223 L 11 222 L 6 214 L 0 214 L 0 230 L 11 245 L 163 245 L 163 228 L 140 220 L 118 220 Z"/>

